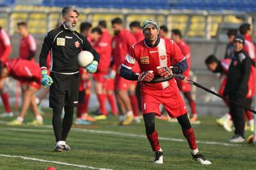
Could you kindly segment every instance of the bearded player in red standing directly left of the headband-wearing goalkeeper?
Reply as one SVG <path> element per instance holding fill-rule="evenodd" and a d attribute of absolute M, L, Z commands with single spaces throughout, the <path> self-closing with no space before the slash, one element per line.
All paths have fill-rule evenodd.
<path fill-rule="evenodd" d="M 129 51 L 132 44 L 136 43 L 136 39 L 131 32 L 124 29 L 121 18 L 114 18 L 112 21 L 113 32 L 115 36 L 112 39 L 112 57 L 113 57 L 113 71 L 116 73 L 115 77 L 115 92 L 116 99 L 120 109 L 120 125 L 129 125 L 133 120 L 132 104 L 127 91 L 133 92 L 133 101 L 138 103 L 135 94 L 136 85 L 132 81 L 125 80 L 120 76 L 120 67 L 124 62 L 125 55 Z M 138 69 L 138 67 L 134 67 Z"/>

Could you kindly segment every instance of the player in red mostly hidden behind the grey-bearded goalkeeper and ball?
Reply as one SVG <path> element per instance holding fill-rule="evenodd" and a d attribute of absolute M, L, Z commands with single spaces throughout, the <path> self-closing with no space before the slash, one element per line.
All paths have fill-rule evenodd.
<path fill-rule="evenodd" d="M 92 24 L 90 22 L 82 22 L 80 32 L 92 44 Z M 91 94 L 90 74 L 86 73 L 84 69 L 79 69 L 79 79 L 79 101 L 77 104 L 77 118 L 75 124 L 87 125 L 95 121 L 95 119 L 90 117 L 87 113 Z"/>

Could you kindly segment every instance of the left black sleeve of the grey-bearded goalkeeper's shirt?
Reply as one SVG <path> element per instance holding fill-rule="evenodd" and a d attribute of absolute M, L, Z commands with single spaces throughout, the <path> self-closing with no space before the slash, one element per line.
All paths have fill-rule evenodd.
<path fill-rule="evenodd" d="M 52 48 L 52 43 L 53 43 L 53 36 L 48 32 L 45 35 L 44 38 L 44 43 L 42 46 L 42 50 L 40 52 L 40 56 L 39 56 L 39 65 L 40 67 L 46 67 L 46 59 L 47 59 L 47 55 L 49 53 L 49 51 Z"/>

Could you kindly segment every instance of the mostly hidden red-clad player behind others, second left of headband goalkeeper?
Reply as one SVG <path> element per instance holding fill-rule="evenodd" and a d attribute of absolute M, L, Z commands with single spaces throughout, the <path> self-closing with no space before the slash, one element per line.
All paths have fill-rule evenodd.
<path fill-rule="evenodd" d="M 112 50 L 112 47 L 111 47 L 112 36 L 109 34 L 109 32 L 107 30 L 106 20 L 100 20 L 99 24 L 98 24 L 98 27 L 102 31 L 101 38 L 106 39 L 108 41 L 108 46 Z M 104 79 L 105 80 L 104 80 L 103 87 L 106 90 L 106 96 L 108 97 L 108 102 L 110 104 L 111 111 L 112 111 L 113 115 L 117 115 L 118 110 L 117 110 L 116 98 L 115 98 L 115 94 L 114 94 L 115 81 L 112 78 L 108 78 L 108 76 L 104 76 Z"/>

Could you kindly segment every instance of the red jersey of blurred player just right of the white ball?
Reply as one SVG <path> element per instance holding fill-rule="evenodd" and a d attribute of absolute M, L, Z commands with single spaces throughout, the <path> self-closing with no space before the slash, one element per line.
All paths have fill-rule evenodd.
<path fill-rule="evenodd" d="M 108 31 L 102 32 L 99 41 L 93 44 L 93 48 L 99 53 L 100 60 L 97 69 L 98 73 L 108 73 L 111 60 L 111 41 L 112 37 Z"/>

